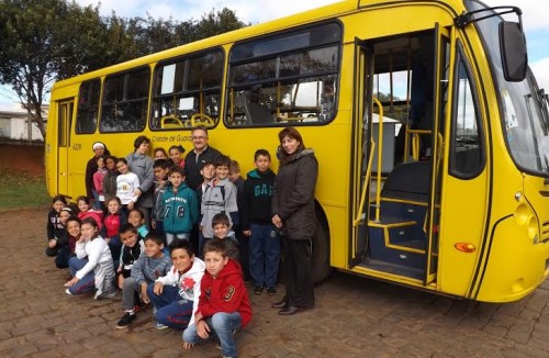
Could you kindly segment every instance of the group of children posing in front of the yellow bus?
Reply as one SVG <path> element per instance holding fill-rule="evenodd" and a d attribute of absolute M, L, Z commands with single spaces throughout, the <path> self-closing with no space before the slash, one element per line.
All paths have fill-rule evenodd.
<path fill-rule="evenodd" d="M 280 238 L 271 223 L 276 176 L 270 155 L 256 152 L 256 169 L 247 180 L 226 156 L 203 163 L 203 182 L 191 189 L 184 182 L 182 150 L 170 159 L 158 150 L 152 232 L 143 212 L 134 209 L 132 188 L 139 183 L 125 159 L 99 158 L 102 180 L 96 190 L 100 189 L 102 210 L 93 209 L 87 197 L 77 199 L 78 210 L 68 206 L 64 197 L 55 197 L 46 254 L 56 257 L 58 268 L 69 268 L 68 294 L 94 291 L 100 299 L 122 290 L 124 315 L 117 328 L 127 327 L 150 302 L 156 327 L 184 329 L 186 348 L 216 336 L 223 355 L 236 356 L 233 333 L 251 318 L 238 242 L 249 244 L 254 292 L 276 293 Z M 199 234 L 192 235 L 197 227 Z M 193 236 L 197 245 L 191 243 Z"/>

